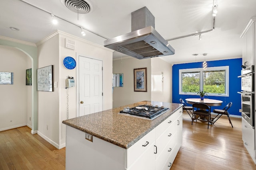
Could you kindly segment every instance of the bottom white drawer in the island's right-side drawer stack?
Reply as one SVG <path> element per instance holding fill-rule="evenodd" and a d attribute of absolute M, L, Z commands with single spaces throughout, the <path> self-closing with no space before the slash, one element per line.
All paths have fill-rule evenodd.
<path fill-rule="evenodd" d="M 156 170 L 162 170 L 162 168 L 168 167 L 168 165 L 166 166 L 166 161 L 169 161 L 168 158 L 172 154 L 172 151 L 176 146 L 176 140 L 177 140 L 177 133 L 173 135 L 171 141 L 166 145 L 162 153 L 158 154 L 158 148 L 157 148 L 157 154 L 159 156 L 158 158 L 156 158 Z"/>

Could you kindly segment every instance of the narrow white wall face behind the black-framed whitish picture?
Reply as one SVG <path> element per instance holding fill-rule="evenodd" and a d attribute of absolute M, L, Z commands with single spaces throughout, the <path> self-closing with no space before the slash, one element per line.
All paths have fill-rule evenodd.
<path fill-rule="evenodd" d="M 53 79 L 59 79 L 59 37 L 55 35 L 38 46 L 38 68 L 53 65 Z M 48 126 L 48 129 L 47 129 Z M 59 145 L 59 90 L 38 91 L 38 134 Z"/>

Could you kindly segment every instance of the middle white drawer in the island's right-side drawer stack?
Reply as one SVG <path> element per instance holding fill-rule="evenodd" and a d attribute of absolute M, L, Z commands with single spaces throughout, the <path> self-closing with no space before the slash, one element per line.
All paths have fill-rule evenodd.
<path fill-rule="evenodd" d="M 164 148 L 166 145 L 169 143 L 169 141 L 175 140 L 175 143 L 177 142 L 177 139 L 174 139 L 174 135 L 176 134 L 177 131 L 177 123 L 176 120 L 162 135 L 156 139 L 156 146 L 157 146 L 157 154 L 156 154 L 156 159 L 158 156 L 163 152 Z"/>

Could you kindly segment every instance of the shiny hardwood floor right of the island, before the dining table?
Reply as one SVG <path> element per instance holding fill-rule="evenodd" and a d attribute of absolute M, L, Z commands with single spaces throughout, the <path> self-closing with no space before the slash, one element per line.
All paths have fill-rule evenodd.
<path fill-rule="evenodd" d="M 256 170 L 242 141 L 241 118 L 223 115 L 214 125 L 197 121 L 191 125 L 183 113 L 183 141 L 170 170 Z"/>

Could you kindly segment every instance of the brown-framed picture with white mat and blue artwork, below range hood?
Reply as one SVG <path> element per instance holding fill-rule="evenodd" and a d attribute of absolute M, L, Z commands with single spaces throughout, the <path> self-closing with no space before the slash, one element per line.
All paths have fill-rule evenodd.
<path fill-rule="evenodd" d="M 147 92 L 147 68 L 134 69 L 134 92 Z"/>

